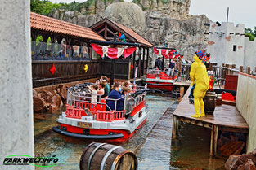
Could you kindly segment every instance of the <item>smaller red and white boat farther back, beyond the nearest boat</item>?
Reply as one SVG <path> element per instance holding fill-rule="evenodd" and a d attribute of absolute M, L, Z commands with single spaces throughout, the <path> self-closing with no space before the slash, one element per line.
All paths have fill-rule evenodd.
<path fill-rule="evenodd" d="M 177 81 L 177 72 L 173 76 L 168 76 L 161 70 L 148 70 L 144 82 L 150 89 L 159 89 L 164 91 L 172 91 L 173 83 Z"/>

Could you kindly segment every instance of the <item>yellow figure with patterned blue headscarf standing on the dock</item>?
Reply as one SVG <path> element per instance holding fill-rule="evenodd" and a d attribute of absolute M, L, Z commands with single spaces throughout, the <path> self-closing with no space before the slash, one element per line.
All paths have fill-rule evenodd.
<path fill-rule="evenodd" d="M 205 68 L 204 61 L 206 59 L 206 54 L 203 50 L 198 50 L 195 52 L 194 56 L 195 62 L 191 65 L 191 85 L 195 84 L 194 89 L 194 105 L 195 105 L 195 115 L 192 117 L 204 117 L 204 95 L 209 89 L 209 77 Z M 200 112 L 199 112 L 200 109 Z"/>

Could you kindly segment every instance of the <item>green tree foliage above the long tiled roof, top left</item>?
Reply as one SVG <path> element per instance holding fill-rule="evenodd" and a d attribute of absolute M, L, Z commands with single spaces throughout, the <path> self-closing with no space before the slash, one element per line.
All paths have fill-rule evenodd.
<path fill-rule="evenodd" d="M 41 15 L 48 15 L 53 9 L 60 9 L 60 7 L 61 4 L 52 3 L 48 0 L 30 1 L 30 10 Z"/>

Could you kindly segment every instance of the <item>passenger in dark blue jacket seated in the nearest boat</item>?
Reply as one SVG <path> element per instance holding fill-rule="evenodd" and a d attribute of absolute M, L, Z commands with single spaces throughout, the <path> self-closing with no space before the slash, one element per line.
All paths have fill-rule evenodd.
<path fill-rule="evenodd" d="M 115 82 L 115 84 L 112 86 L 112 91 L 110 92 L 108 98 L 111 99 L 119 99 L 116 102 L 116 111 L 123 111 L 124 110 L 124 95 L 120 94 L 122 91 L 122 87 L 118 82 Z M 110 107 L 111 110 L 115 110 L 115 101 L 114 100 L 106 100 L 106 104 Z M 109 108 L 106 108 L 107 111 L 109 111 Z"/>

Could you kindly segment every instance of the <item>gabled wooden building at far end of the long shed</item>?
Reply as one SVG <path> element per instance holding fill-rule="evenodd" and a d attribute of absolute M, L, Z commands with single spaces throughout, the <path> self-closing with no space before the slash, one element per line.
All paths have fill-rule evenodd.
<path fill-rule="evenodd" d="M 134 78 L 134 72 L 136 67 L 138 68 L 138 77 L 146 74 L 146 68 L 148 66 L 149 49 L 153 45 L 147 41 L 144 37 L 141 37 L 138 33 L 134 32 L 131 28 L 124 27 L 122 24 L 117 24 L 107 18 L 100 20 L 96 24 L 93 24 L 90 28 L 107 41 L 113 41 L 115 33 L 124 33 L 125 41 L 131 43 L 138 43 L 140 47 L 136 53 L 132 54 L 127 59 L 117 59 L 115 64 L 115 78 L 130 79 Z M 110 59 L 101 60 L 101 74 L 110 76 Z M 131 65 L 132 70 L 131 70 Z"/>

